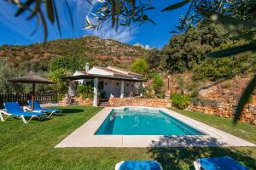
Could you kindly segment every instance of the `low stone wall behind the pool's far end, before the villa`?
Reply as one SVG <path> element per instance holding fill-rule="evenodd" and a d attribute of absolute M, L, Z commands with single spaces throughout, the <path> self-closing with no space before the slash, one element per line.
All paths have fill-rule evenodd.
<path fill-rule="evenodd" d="M 150 106 L 150 107 L 171 107 L 169 99 L 145 99 L 145 98 L 110 98 L 109 104 L 118 106 Z"/>

